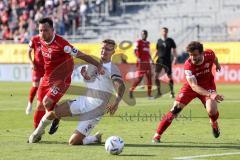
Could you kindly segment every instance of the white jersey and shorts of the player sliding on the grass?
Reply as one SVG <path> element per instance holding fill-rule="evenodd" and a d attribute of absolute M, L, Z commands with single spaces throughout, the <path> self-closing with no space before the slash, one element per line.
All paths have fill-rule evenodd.
<path fill-rule="evenodd" d="M 87 82 L 86 96 L 79 96 L 70 104 L 72 115 L 79 115 L 77 130 L 83 135 L 90 134 L 105 112 L 105 107 L 114 93 L 112 80 L 122 79 L 118 67 L 111 62 L 103 64 L 105 74 Z"/>

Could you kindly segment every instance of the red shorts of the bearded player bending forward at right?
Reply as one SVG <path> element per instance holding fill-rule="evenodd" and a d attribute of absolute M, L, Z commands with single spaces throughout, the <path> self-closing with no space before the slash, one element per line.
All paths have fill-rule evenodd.
<path fill-rule="evenodd" d="M 212 85 L 211 87 L 209 86 L 209 87 L 203 87 L 203 88 L 208 90 L 209 92 L 216 92 L 215 84 Z M 183 86 L 176 97 L 176 101 L 187 105 L 189 102 L 191 102 L 196 97 L 201 100 L 203 105 L 205 105 L 207 99 L 209 99 L 209 97 L 206 97 L 206 96 L 203 96 L 203 95 L 200 95 L 200 94 L 194 92 L 190 86 L 189 87 Z"/>

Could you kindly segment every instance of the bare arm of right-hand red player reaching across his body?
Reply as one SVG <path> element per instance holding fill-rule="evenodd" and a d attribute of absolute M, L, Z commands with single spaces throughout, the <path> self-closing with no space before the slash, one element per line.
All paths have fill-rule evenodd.
<path fill-rule="evenodd" d="M 218 103 L 220 103 L 221 101 L 223 101 L 223 96 L 217 94 L 216 92 L 209 92 L 206 89 L 202 88 L 201 86 L 199 86 L 197 84 L 197 79 L 195 78 L 195 76 L 191 76 L 191 77 L 186 77 L 189 85 L 191 86 L 192 90 L 197 92 L 200 95 L 206 96 L 211 98 L 212 100 L 217 101 Z"/>

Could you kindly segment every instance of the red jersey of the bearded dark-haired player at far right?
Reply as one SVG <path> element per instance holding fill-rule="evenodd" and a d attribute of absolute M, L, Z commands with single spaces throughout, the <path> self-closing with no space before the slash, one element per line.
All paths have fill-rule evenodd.
<path fill-rule="evenodd" d="M 194 65 L 190 58 L 184 64 L 184 72 L 186 77 L 194 76 L 197 79 L 197 84 L 203 88 L 211 85 L 215 86 L 214 76 L 212 74 L 212 66 L 215 60 L 215 54 L 212 50 L 204 51 L 204 60 L 201 65 Z M 184 87 L 190 87 L 185 79 Z"/>

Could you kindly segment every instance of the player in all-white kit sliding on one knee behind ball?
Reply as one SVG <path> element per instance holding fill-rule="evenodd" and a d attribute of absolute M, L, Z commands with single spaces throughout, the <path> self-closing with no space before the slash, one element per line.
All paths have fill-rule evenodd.
<path fill-rule="evenodd" d="M 99 122 L 105 111 L 114 114 L 118 109 L 119 102 L 125 91 L 125 85 L 121 78 L 121 74 L 116 65 L 112 64 L 111 57 L 115 52 L 115 42 L 107 39 L 103 41 L 101 51 L 101 61 L 105 69 L 104 75 L 89 76 L 85 67 L 82 68 L 81 74 L 85 80 L 90 80 L 86 83 L 86 96 L 79 96 L 73 101 L 67 101 L 57 106 L 54 111 L 49 111 L 45 114 L 39 123 L 36 130 L 29 137 L 29 143 L 37 143 L 44 133 L 44 129 L 53 119 L 69 116 L 78 116 L 78 126 L 69 139 L 69 144 L 91 144 L 101 142 L 101 134 L 97 133 L 90 136 L 91 130 Z M 88 66 L 90 67 L 90 66 Z M 92 75 L 92 74 L 91 74 Z M 94 78 L 95 77 L 95 78 Z M 117 97 L 113 103 L 110 103 L 110 98 L 114 92 Z"/>

